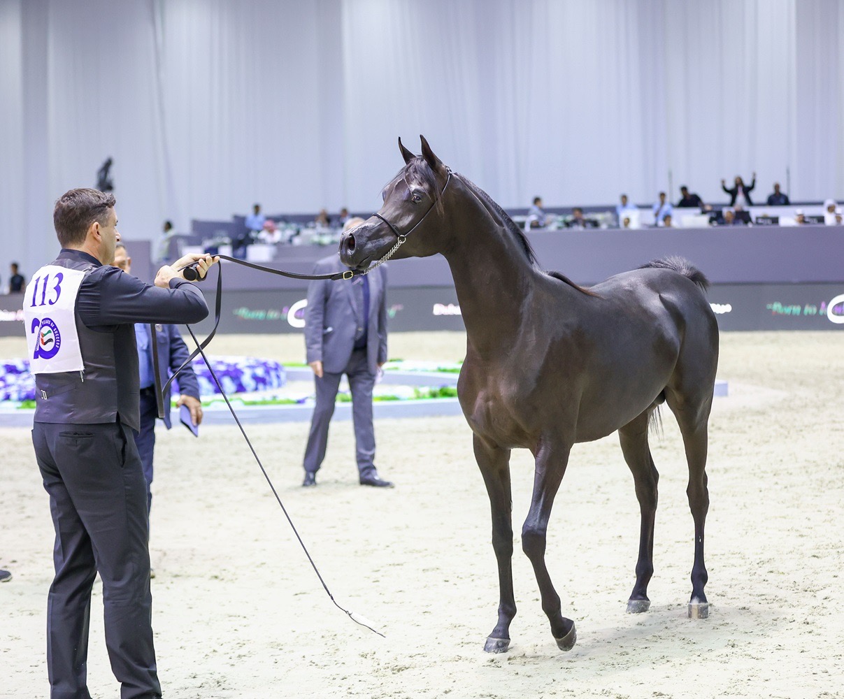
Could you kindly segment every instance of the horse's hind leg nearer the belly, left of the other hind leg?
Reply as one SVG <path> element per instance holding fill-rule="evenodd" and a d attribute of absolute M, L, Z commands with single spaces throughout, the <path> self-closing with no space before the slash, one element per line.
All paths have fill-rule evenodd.
<path fill-rule="evenodd" d="M 639 557 L 636 561 L 636 584 L 627 600 L 627 611 L 647 611 L 651 600 L 647 597 L 647 583 L 653 575 L 653 527 L 657 517 L 657 481 L 659 474 L 653 465 L 651 448 L 647 444 L 647 427 L 653 408 L 649 408 L 632 422 L 619 429 L 621 451 L 625 455 L 641 512 L 639 532 Z"/>

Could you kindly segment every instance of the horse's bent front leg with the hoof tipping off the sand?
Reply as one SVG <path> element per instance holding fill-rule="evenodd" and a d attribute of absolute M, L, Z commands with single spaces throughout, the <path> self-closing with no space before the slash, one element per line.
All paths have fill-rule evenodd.
<path fill-rule="evenodd" d="M 548 615 L 551 633 L 561 650 L 574 648 L 577 632 L 575 622 L 560 613 L 560 595 L 556 593 L 545 566 L 545 540 L 551 507 L 560 488 L 560 481 L 563 480 L 570 451 L 571 444 L 539 444 L 534 453 L 536 470 L 533 475 L 533 497 L 522 527 L 522 549 L 533 564 L 533 573 L 542 595 L 542 609 Z"/>

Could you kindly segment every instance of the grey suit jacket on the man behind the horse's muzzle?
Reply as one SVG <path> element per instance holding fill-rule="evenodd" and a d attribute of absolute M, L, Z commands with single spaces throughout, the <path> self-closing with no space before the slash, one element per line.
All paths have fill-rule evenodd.
<path fill-rule="evenodd" d="M 379 266 L 369 277 L 370 312 L 366 360 L 372 374 L 387 361 L 387 271 Z M 349 269 L 337 255 L 317 262 L 314 274 L 332 274 Z M 349 363 L 356 329 L 352 281 L 320 279 L 308 284 L 305 309 L 307 362 L 322 362 L 322 370 L 340 374 Z"/>

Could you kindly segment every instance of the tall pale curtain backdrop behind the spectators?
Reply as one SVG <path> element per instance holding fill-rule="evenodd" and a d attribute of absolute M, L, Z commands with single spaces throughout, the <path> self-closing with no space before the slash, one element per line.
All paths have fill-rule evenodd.
<path fill-rule="evenodd" d="M 120 229 L 371 211 L 425 134 L 505 207 L 844 198 L 841 0 L 0 0 L 0 277 L 114 159 Z"/>

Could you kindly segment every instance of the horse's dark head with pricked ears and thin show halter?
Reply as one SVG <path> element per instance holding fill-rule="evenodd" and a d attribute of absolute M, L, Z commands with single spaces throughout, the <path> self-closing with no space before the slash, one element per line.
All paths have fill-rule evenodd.
<path fill-rule="evenodd" d="M 340 259 L 345 265 L 365 269 L 396 245 L 399 247 L 391 255 L 393 259 L 427 257 L 441 251 L 441 196 L 451 171 L 436 157 L 425 137 L 420 138 L 421 156 L 404 148 L 402 139 L 398 139 L 404 167 L 381 191 L 384 204 L 378 212 L 340 239 Z"/>

